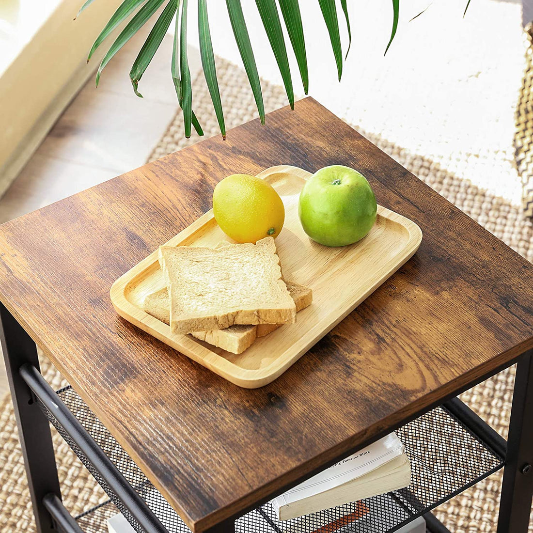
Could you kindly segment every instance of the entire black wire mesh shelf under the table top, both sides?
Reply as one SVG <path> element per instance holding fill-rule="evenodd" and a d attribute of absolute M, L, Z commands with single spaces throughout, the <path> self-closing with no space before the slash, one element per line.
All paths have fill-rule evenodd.
<path fill-rule="evenodd" d="M 189 528 L 76 392 L 71 387 L 65 387 L 58 391 L 58 394 L 158 516 L 168 529 L 168 533 L 189 532 Z M 50 422 L 110 497 L 108 503 L 78 516 L 80 527 L 86 533 L 107 533 L 106 519 L 116 514 L 118 507 L 133 528 L 139 533 L 144 533 L 68 434 L 49 411 L 44 407 L 43 409 Z M 411 461 L 413 476 L 407 489 L 284 522 L 276 519 L 271 504 L 267 503 L 241 517 L 236 523 L 236 531 L 238 533 L 392 532 L 503 466 L 503 457 L 444 407 L 433 409 L 401 427 L 397 430 L 397 434 L 405 445 Z M 257 467 L 260 468 L 260 465 Z"/>

